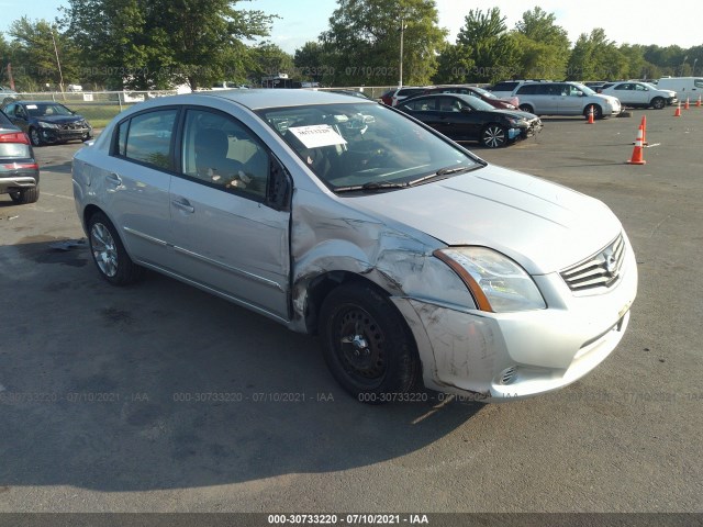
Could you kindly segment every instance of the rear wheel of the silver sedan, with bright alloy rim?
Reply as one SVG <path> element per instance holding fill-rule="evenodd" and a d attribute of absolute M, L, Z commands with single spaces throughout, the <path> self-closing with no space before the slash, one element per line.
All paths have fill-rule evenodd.
<path fill-rule="evenodd" d="M 88 221 L 88 244 L 100 276 L 113 285 L 136 282 L 144 268 L 132 261 L 112 222 L 102 212 Z"/>

